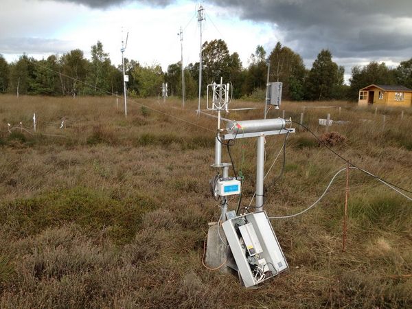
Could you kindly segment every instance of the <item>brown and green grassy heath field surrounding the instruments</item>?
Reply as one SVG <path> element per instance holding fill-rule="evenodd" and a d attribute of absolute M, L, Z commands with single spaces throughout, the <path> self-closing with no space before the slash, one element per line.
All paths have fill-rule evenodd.
<path fill-rule="evenodd" d="M 0 96 L 1 308 L 412 307 L 412 203 L 355 170 L 345 252 L 343 173 L 317 207 L 273 220 L 288 271 L 248 290 L 236 277 L 204 268 L 207 223 L 220 214 L 208 183 L 216 119 L 196 117 L 196 102 L 181 110 L 177 99 L 134 101 L 125 118 L 122 100 L 117 110 L 112 97 Z M 341 113 L 306 108 L 305 125 L 321 136 L 325 127 L 317 119 L 327 113 L 350 121 L 332 126 L 345 137 L 332 149 L 412 189 L 412 109 L 400 119 L 398 109 L 375 115 L 347 102 L 284 102 L 269 115 L 285 109 L 299 121 L 302 106 L 319 105 L 341 106 Z M 21 128 L 9 134 L 8 123 Z M 283 137 L 266 139 L 266 170 L 282 144 Z M 248 205 L 255 140 L 238 140 L 231 149 Z M 281 165 L 278 159 L 265 181 L 271 216 L 308 207 L 345 162 L 297 128 L 288 139 L 284 176 L 275 183 Z"/>

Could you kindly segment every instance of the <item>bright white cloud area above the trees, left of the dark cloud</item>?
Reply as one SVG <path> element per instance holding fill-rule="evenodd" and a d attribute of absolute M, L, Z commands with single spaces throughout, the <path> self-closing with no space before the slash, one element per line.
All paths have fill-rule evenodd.
<path fill-rule="evenodd" d="M 149 65 L 159 62 L 165 70 L 169 64 L 181 59 L 177 33 L 182 26 L 185 27 L 183 62 L 187 65 L 198 61 L 200 38 L 194 2 L 183 1 L 167 8 L 128 3 L 98 10 L 54 1 L 5 1 L 5 10 L 0 13 L 0 26 L 7 28 L 7 31 L 0 36 L 0 53 L 8 59 L 15 59 L 23 52 L 41 58 L 43 54 L 62 54 L 75 48 L 82 49 L 85 56 L 90 56 L 91 45 L 99 40 L 110 54 L 112 62 L 119 64 L 124 27 L 124 36 L 129 32 L 125 56 Z M 233 11 L 222 10 L 216 5 L 205 5 L 205 12 L 203 42 L 214 38 L 224 39 L 229 51 L 238 52 L 245 66 L 257 45 L 264 45 L 267 52 L 271 52 L 269 49 L 280 38 L 271 24 L 240 21 Z M 32 48 L 26 43 L 21 44 L 19 50 L 16 41 L 20 38 L 22 42 L 32 42 Z M 34 38 L 38 38 L 36 46 Z M 40 38 L 49 39 L 48 44 L 41 43 Z M 6 46 L 6 42 L 13 42 L 12 50 L 10 44 Z"/>

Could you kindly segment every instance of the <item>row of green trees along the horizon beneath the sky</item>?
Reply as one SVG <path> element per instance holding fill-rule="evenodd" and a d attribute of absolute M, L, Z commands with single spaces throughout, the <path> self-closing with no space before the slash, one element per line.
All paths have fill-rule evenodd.
<path fill-rule="evenodd" d="M 269 80 L 283 82 L 284 100 L 357 100 L 358 90 L 369 84 L 400 84 L 412 89 L 412 58 L 390 68 L 385 62 L 369 62 L 352 67 L 350 84 L 344 84 L 345 69 L 332 60 L 332 53 L 322 49 L 307 69 L 301 56 L 277 43 L 270 54 L 261 45 L 251 54 L 248 66 L 243 67 L 239 54 L 229 53 L 222 40 L 203 43 L 203 87 L 212 82 L 231 82 L 233 98 L 262 100 L 266 91 L 267 68 Z M 124 58 L 128 95 L 147 98 L 161 94 L 161 84 L 168 83 L 169 95 L 181 96 L 181 62 L 168 66 L 141 65 Z M 91 46 L 91 59 L 84 58 L 80 49 L 62 56 L 52 55 L 36 60 L 23 54 L 8 63 L 0 54 L 0 93 L 27 95 L 107 95 L 123 94 L 122 65 L 112 65 L 109 55 L 98 41 Z M 199 63 L 185 67 L 187 98 L 198 95 Z"/>

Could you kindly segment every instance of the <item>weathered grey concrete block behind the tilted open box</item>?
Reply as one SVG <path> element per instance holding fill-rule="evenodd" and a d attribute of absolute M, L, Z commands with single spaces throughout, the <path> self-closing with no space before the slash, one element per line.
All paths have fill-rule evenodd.
<path fill-rule="evenodd" d="M 227 240 L 225 232 L 222 227 L 219 230 L 220 240 L 218 235 L 218 222 L 209 223 L 209 231 L 207 232 L 207 247 L 206 247 L 206 265 L 210 268 L 216 268 L 227 260 L 229 247 L 227 246 Z M 220 271 L 227 273 L 227 265 L 220 268 Z"/>

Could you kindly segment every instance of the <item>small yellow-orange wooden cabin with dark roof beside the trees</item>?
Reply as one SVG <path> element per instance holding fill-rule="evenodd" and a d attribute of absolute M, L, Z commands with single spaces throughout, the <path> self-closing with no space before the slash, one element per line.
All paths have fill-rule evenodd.
<path fill-rule="evenodd" d="M 358 104 L 409 107 L 412 105 L 412 89 L 404 86 L 371 84 L 359 90 Z"/>

